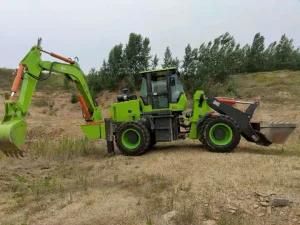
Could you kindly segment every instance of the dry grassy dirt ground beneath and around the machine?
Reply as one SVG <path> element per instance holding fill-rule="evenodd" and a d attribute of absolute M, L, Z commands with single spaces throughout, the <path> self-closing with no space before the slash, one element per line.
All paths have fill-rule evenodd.
<path fill-rule="evenodd" d="M 249 98 L 253 77 L 247 79 L 241 95 Z M 252 93 L 262 99 L 255 120 L 299 124 L 291 86 L 273 88 L 265 83 Z M 98 98 L 106 116 L 115 96 Z M 70 97 L 38 92 L 26 156 L 0 156 L 0 224 L 300 224 L 299 128 L 284 146 L 242 141 L 234 153 L 214 154 L 187 140 L 158 144 L 141 157 L 111 156 L 103 141 L 82 139 L 80 108 Z"/>

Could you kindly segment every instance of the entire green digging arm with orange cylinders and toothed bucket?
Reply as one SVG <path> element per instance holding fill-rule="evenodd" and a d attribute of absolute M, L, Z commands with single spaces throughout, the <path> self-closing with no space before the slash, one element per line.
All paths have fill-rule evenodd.
<path fill-rule="evenodd" d="M 63 60 L 66 63 L 42 61 L 42 52 Z M 22 155 L 19 148 L 25 142 L 27 127 L 25 117 L 36 90 L 36 85 L 44 71 L 48 71 L 50 75 L 52 72 L 62 74 L 75 82 L 80 93 L 78 99 L 83 117 L 87 122 L 82 126 L 83 132 L 90 139 L 105 136 L 101 109 L 95 104 L 92 98 L 85 75 L 80 69 L 79 64 L 72 59 L 46 52 L 39 46 L 34 46 L 20 62 L 12 85 L 11 97 L 5 101 L 5 115 L 0 123 L 0 150 L 7 155 Z M 21 90 L 17 96 L 16 93 L 19 87 L 21 87 Z"/>

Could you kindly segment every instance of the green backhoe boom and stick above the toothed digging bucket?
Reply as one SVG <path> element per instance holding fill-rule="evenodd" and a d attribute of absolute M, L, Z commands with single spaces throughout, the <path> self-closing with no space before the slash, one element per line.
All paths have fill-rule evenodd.
<path fill-rule="evenodd" d="M 20 65 L 21 69 L 24 68 L 24 75 L 21 93 L 17 105 L 22 112 L 22 116 L 25 116 L 27 114 L 28 108 L 31 103 L 31 98 L 35 91 L 37 82 L 40 79 L 41 72 L 49 71 L 50 73 L 57 72 L 59 74 L 68 76 L 75 82 L 81 94 L 81 96 L 79 97 L 79 101 L 81 103 L 83 115 L 86 121 L 102 120 L 101 111 L 93 101 L 85 80 L 85 75 L 76 62 L 74 62 L 73 64 L 65 64 L 59 62 L 42 61 L 41 49 L 39 49 L 38 47 L 33 47 L 21 61 Z M 16 79 L 20 78 L 16 76 Z M 12 90 L 12 93 L 14 93 L 15 91 L 16 90 Z"/>

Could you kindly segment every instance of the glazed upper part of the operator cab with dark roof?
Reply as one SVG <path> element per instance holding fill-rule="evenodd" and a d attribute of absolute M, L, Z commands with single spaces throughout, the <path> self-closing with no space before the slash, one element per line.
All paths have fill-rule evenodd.
<path fill-rule="evenodd" d="M 185 98 L 180 74 L 175 67 L 146 71 L 141 75 L 141 99 L 144 105 L 151 105 L 153 110 L 170 109 L 171 105 L 179 103 L 181 97 Z"/>

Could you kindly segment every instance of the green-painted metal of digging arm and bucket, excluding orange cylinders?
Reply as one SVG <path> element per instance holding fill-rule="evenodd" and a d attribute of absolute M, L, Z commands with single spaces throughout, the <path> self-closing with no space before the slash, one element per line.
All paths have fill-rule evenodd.
<path fill-rule="evenodd" d="M 85 75 L 77 63 L 64 64 L 41 60 L 41 50 L 34 46 L 20 62 L 26 69 L 23 74 L 20 94 L 17 100 L 5 101 L 5 114 L 0 123 L 0 145 L 20 148 L 25 142 L 25 117 L 31 104 L 32 96 L 36 90 L 38 79 L 42 71 L 52 71 L 70 77 L 85 99 L 92 115 L 93 125 L 87 125 L 82 130 L 88 138 L 104 138 L 104 125 L 100 108 L 96 106 L 90 94 Z"/>

